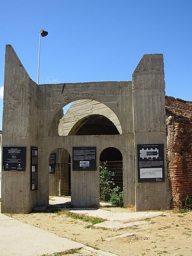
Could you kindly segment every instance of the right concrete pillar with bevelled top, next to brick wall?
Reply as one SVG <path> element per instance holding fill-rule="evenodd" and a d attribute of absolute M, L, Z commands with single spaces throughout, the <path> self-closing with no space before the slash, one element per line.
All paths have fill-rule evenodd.
<path fill-rule="evenodd" d="M 167 208 L 165 82 L 162 54 L 143 55 L 132 74 L 137 211 Z M 165 182 L 138 182 L 137 145 L 164 144 Z"/>

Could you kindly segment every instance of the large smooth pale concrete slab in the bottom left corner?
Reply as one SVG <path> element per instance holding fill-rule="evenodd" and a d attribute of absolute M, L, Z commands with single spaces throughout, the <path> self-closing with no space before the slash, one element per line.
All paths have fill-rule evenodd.
<path fill-rule="evenodd" d="M 34 256 L 84 247 L 0 213 L 0 256 Z"/>

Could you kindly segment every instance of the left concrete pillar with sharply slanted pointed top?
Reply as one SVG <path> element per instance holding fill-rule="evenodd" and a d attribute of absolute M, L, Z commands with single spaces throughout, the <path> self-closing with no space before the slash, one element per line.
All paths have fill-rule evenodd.
<path fill-rule="evenodd" d="M 6 45 L 2 146 L 26 146 L 26 170 L 2 171 L 1 212 L 30 212 L 37 190 L 30 185 L 30 151 L 37 146 L 37 84 Z"/>

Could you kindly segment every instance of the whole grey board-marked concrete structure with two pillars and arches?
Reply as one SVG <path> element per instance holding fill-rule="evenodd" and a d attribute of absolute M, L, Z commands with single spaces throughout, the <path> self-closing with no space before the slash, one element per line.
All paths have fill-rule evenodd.
<path fill-rule="evenodd" d="M 168 180 L 138 182 L 137 144 L 164 144 L 166 163 L 165 83 L 162 54 L 142 57 L 132 81 L 37 85 L 11 45 L 6 45 L 3 146 L 26 146 L 26 171 L 2 172 L 2 212 L 30 212 L 49 202 L 49 156 L 64 148 L 96 147 L 96 171 L 71 172 L 71 204 L 99 205 L 99 158 L 108 147 L 123 156 L 124 204 L 136 210 L 169 208 Z M 59 136 L 62 108 L 75 100 L 96 100 L 116 115 L 119 134 Z M 115 121 L 114 121 L 115 122 Z M 38 189 L 31 190 L 31 147 L 38 148 Z M 72 162 L 71 162 L 72 163 Z"/>

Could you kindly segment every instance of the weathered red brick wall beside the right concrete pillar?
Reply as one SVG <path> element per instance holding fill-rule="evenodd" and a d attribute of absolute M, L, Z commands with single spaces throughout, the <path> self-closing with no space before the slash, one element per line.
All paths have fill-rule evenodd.
<path fill-rule="evenodd" d="M 192 196 L 192 101 L 165 96 L 167 167 L 172 206 Z"/>

